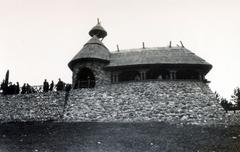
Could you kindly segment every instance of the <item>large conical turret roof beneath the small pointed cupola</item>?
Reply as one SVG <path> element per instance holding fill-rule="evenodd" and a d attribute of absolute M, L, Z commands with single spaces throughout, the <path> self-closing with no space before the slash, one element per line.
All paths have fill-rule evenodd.
<path fill-rule="evenodd" d="M 74 65 L 81 61 L 101 61 L 109 63 L 110 52 L 108 48 L 94 35 L 83 48 L 69 62 L 68 66 L 73 69 Z"/>

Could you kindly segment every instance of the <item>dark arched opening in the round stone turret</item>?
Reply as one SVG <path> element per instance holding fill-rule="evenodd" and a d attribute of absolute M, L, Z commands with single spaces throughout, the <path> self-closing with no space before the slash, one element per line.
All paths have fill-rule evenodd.
<path fill-rule="evenodd" d="M 95 86 L 95 76 L 91 69 L 82 68 L 77 75 L 77 82 L 74 89 L 93 88 Z"/>

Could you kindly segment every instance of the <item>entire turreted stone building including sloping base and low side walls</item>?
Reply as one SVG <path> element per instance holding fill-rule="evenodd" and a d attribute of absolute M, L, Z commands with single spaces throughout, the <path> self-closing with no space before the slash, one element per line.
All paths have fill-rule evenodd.
<path fill-rule="evenodd" d="M 207 84 L 212 65 L 183 45 L 113 52 L 102 43 L 107 32 L 100 23 L 89 35 L 68 64 L 75 90 L 0 96 L 0 122 L 239 124 L 239 115 L 226 115 Z"/>

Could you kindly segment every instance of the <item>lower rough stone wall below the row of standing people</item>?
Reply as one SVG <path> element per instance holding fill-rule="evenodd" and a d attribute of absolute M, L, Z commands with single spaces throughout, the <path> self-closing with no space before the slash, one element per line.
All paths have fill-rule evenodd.
<path fill-rule="evenodd" d="M 0 96 L 0 121 L 59 120 L 64 92 Z"/>

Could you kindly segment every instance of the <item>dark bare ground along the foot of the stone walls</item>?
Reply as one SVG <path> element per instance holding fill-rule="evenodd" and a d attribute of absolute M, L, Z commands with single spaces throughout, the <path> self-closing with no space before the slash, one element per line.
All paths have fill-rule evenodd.
<path fill-rule="evenodd" d="M 240 151 L 240 126 L 166 123 L 8 123 L 0 152 Z"/>

